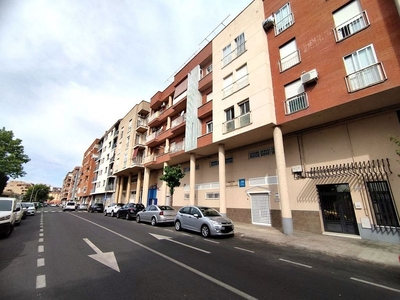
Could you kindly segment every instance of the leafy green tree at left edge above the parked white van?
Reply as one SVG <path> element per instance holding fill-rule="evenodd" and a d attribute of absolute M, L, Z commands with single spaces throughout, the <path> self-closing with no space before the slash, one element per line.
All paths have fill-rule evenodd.
<path fill-rule="evenodd" d="M 26 175 L 22 165 L 30 161 L 30 158 L 24 153 L 21 142 L 20 139 L 14 139 L 12 131 L 4 127 L 0 129 L 0 195 L 10 177 L 15 179 Z"/>

